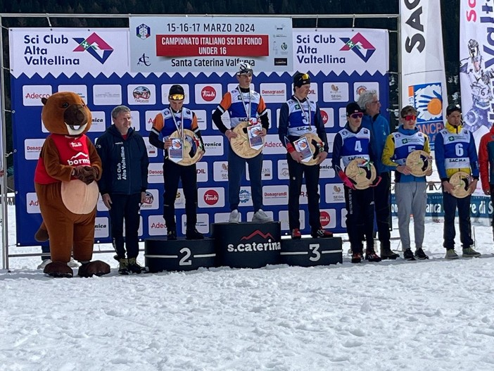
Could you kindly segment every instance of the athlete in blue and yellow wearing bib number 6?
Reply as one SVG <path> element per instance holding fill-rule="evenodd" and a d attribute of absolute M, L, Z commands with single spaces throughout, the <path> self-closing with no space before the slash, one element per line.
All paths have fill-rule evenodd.
<path fill-rule="evenodd" d="M 458 199 L 451 194 L 453 188 L 450 177 L 459 171 L 467 172 L 473 178 L 469 184 L 470 194 L 477 187 L 479 180 L 479 160 L 475 148 L 474 137 L 471 132 L 462 126 L 462 110 L 457 104 L 450 104 L 446 108 L 448 121 L 441 132 L 436 135 L 435 149 L 436 165 L 439 177 L 443 183 L 443 207 L 444 207 L 444 243 L 446 259 L 457 259 L 455 252 L 455 211 L 458 208 L 460 221 L 460 241 L 462 242 L 463 256 L 465 258 L 477 257 L 481 254 L 474 251 L 471 239 L 470 223 L 470 199 Z"/>

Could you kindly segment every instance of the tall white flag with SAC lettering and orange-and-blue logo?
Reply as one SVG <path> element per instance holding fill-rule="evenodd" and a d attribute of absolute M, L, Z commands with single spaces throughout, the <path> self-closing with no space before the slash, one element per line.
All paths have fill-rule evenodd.
<path fill-rule="evenodd" d="M 429 136 L 433 149 L 448 103 L 440 0 L 400 0 L 400 27 L 400 109 L 417 109 L 417 127 Z"/>

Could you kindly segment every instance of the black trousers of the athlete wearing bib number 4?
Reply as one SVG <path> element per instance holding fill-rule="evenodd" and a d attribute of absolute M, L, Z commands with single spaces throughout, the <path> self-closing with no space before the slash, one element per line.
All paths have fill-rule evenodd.
<path fill-rule="evenodd" d="M 353 252 L 362 253 L 362 234 L 367 249 L 374 249 L 374 189 L 345 189 L 346 232 Z"/>

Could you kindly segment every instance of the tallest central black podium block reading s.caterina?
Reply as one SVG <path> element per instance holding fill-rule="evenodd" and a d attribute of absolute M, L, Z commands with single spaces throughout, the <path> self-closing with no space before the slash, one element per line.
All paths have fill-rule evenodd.
<path fill-rule="evenodd" d="M 261 268 L 279 264 L 281 223 L 213 223 L 219 265 L 231 268 Z"/>

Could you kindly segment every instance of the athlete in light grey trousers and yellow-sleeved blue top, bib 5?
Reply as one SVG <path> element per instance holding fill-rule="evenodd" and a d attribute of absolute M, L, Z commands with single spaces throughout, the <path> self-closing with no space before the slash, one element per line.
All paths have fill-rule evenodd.
<path fill-rule="evenodd" d="M 401 112 L 401 124 L 397 132 L 389 134 L 384 144 L 382 163 L 395 170 L 395 197 L 398 204 L 398 229 L 406 260 L 428 259 L 422 243 L 424 242 L 425 213 L 427 205 L 426 177 L 415 177 L 406 165 L 410 153 L 422 150 L 431 153 L 429 138 L 419 132 L 417 110 L 412 106 L 404 107 Z M 426 174 L 431 175 L 432 169 Z M 415 253 L 410 249 L 410 214 L 413 215 Z"/>

